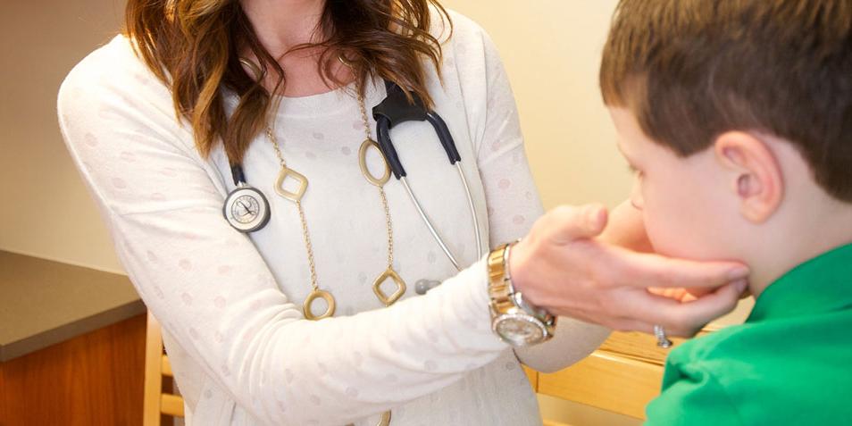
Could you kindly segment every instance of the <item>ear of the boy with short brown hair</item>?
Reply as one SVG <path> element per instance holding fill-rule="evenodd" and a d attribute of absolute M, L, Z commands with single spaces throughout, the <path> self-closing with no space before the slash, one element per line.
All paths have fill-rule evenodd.
<path fill-rule="evenodd" d="M 751 133 L 729 131 L 716 138 L 714 153 L 729 171 L 726 176 L 739 196 L 743 217 L 755 223 L 769 219 L 784 198 L 781 166 L 769 146 Z"/>

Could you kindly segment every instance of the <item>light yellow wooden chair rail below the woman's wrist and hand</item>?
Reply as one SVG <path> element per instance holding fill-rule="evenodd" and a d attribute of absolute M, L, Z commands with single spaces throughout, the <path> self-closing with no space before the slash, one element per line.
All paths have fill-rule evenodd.
<path fill-rule="evenodd" d="M 662 380 L 662 366 L 596 351 L 561 372 L 539 373 L 539 393 L 644 419 Z"/>

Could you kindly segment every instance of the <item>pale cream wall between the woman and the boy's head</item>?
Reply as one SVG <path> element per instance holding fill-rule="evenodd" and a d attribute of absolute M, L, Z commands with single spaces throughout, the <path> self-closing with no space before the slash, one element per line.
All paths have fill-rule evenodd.
<path fill-rule="evenodd" d="M 615 205 L 630 173 L 597 89 L 616 0 L 445 0 L 495 40 L 521 112 L 530 163 L 547 207 Z"/>

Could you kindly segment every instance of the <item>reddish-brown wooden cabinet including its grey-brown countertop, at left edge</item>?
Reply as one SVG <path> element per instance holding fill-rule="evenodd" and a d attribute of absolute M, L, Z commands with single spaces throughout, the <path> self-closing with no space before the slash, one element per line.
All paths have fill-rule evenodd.
<path fill-rule="evenodd" d="M 0 426 L 141 424 L 144 313 L 124 275 L 0 251 Z"/>

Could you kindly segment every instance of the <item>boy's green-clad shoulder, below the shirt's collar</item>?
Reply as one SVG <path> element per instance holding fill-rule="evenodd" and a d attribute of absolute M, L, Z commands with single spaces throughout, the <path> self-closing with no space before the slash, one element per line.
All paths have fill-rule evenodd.
<path fill-rule="evenodd" d="M 647 424 L 852 422 L 850 329 L 852 309 L 842 309 L 689 340 L 666 360 Z"/>

